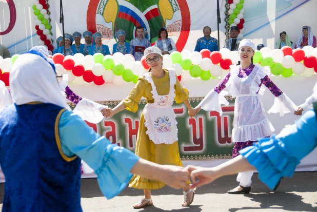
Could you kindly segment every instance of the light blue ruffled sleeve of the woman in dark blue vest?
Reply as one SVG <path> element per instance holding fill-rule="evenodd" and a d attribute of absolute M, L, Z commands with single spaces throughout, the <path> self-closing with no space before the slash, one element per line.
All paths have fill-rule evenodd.
<path fill-rule="evenodd" d="M 68 157 L 77 155 L 95 171 L 107 199 L 117 196 L 128 185 L 130 170 L 139 160 L 132 151 L 111 144 L 72 111 L 62 113 L 58 129 L 63 153 Z"/>

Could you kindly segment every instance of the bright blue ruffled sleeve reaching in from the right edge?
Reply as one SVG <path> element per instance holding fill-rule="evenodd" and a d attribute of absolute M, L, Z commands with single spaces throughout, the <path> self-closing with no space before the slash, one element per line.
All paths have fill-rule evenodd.
<path fill-rule="evenodd" d="M 282 177 L 292 177 L 296 165 L 317 145 L 317 121 L 313 110 L 278 136 L 260 139 L 239 151 L 259 171 L 259 179 L 273 189 Z"/>

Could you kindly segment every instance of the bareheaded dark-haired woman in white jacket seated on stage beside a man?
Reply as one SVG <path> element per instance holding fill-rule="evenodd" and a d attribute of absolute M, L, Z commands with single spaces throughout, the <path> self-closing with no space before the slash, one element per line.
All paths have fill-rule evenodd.
<path fill-rule="evenodd" d="M 173 51 L 176 51 L 176 46 L 174 41 L 171 38 L 168 38 L 167 30 L 162 28 L 159 31 L 159 39 L 155 41 L 155 47 L 159 48 L 162 51 L 162 54 L 170 54 Z"/>

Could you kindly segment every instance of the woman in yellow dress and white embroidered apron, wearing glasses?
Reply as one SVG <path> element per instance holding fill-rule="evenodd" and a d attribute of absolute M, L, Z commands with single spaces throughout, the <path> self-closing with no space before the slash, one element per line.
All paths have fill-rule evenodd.
<path fill-rule="evenodd" d="M 136 112 L 138 101 L 142 97 L 147 99 L 138 128 L 135 154 L 147 161 L 158 164 L 182 166 L 180 159 L 179 143 L 177 142 L 177 122 L 172 104 L 184 103 L 188 108 L 190 117 L 195 115 L 195 109 L 188 101 L 188 90 L 182 87 L 173 69 L 163 69 L 163 56 L 161 50 L 156 47 L 145 49 L 146 62 L 150 66 L 148 73 L 142 74 L 129 94 L 120 104 L 107 110 L 105 117 L 112 117 L 124 109 Z M 144 189 L 145 198 L 133 205 L 134 208 L 142 208 L 152 205 L 151 190 L 160 189 L 165 183 L 149 180 L 134 175 L 129 187 Z M 183 187 L 184 203 L 189 206 L 194 197 L 194 190 L 189 185 Z"/>

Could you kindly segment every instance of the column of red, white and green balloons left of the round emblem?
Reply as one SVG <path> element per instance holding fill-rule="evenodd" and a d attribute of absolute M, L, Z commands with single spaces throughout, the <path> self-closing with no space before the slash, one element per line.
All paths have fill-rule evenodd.
<path fill-rule="evenodd" d="M 38 45 L 48 49 L 49 54 L 53 52 L 52 32 L 49 5 L 47 0 L 33 0 L 33 14 L 35 15 L 35 29 L 38 35 Z"/>

